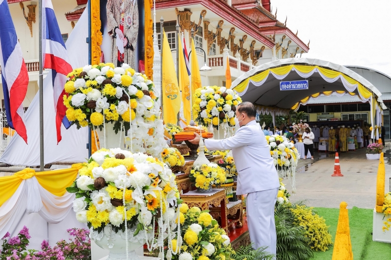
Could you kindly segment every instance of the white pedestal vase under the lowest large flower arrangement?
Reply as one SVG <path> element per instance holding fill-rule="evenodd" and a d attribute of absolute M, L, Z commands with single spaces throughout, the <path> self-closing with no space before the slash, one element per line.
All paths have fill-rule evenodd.
<path fill-rule="evenodd" d="M 115 234 L 114 245 L 109 248 L 108 240 L 106 236 L 103 236 L 101 240 L 94 240 L 96 245 L 109 251 L 109 257 L 107 260 L 126 260 L 126 240 L 123 239 L 119 234 Z M 128 260 L 141 260 L 137 255 L 136 250 L 142 247 L 143 244 L 139 242 L 128 241 Z M 137 250 L 138 251 L 138 250 Z M 103 257 L 103 256 L 101 256 Z"/>

